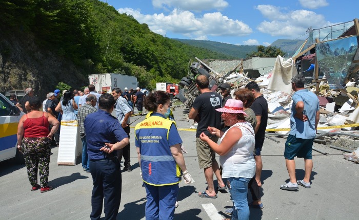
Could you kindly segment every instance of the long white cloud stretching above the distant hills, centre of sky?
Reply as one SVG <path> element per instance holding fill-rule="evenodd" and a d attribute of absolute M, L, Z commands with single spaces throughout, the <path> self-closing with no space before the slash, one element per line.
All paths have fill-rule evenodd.
<path fill-rule="evenodd" d="M 132 15 L 139 23 L 146 23 L 150 30 L 165 35 L 171 31 L 190 38 L 211 36 L 245 36 L 252 33 L 252 29 L 240 20 L 233 20 L 221 12 L 206 13 L 202 17 L 195 17 L 190 11 L 174 9 L 168 15 L 141 14 L 131 8 L 120 8 L 119 13 Z"/>

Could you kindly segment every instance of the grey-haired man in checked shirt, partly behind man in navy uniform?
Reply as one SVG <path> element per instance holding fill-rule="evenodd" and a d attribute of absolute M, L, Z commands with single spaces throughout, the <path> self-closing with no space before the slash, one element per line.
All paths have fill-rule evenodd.
<path fill-rule="evenodd" d="M 96 105 L 96 102 L 96 96 L 90 94 L 86 97 L 86 103 L 77 109 L 77 118 L 78 124 L 80 126 L 80 137 L 82 141 L 82 167 L 86 172 L 90 172 L 90 158 L 87 154 L 87 142 L 84 121 L 87 115 L 97 112 L 97 109 L 94 107 Z"/>

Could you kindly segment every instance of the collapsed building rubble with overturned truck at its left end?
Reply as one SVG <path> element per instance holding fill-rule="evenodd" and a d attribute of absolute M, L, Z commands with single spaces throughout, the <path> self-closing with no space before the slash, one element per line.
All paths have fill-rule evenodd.
<path fill-rule="evenodd" d="M 255 81 L 268 102 L 268 135 L 272 133 L 285 137 L 290 127 L 291 78 L 295 74 L 303 74 L 306 89 L 315 93 L 320 100 L 318 143 L 327 143 L 333 148 L 344 150 L 348 152 L 344 155 L 346 159 L 359 163 L 358 19 L 354 19 L 352 24 L 335 38 L 329 38 L 330 34 L 327 34 L 315 38 L 314 43 L 307 43 L 306 40 L 291 58 L 196 58 L 198 62 L 192 63 L 190 74 L 179 83 L 182 89 L 177 98 L 188 107 L 184 113 L 189 111 L 198 95 L 194 84 L 198 74 L 209 77 L 209 89 L 215 92 L 219 92 L 218 86 L 224 82 L 231 84 L 233 94 L 237 89 L 244 89 L 249 81 Z"/>

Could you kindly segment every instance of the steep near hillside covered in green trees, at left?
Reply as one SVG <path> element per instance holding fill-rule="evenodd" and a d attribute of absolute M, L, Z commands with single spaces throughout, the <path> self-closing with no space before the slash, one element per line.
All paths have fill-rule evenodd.
<path fill-rule="evenodd" d="M 231 58 L 155 34 L 98 0 L 1 1 L 0 20 L 0 92 L 33 87 L 43 98 L 59 81 L 79 88 L 109 72 L 153 89 L 185 76 L 195 56 Z"/>

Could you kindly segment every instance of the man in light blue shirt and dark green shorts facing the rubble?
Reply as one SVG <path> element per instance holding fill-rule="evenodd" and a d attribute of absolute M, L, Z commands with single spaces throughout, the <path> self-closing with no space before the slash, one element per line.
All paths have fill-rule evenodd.
<path fill-rule="evenodd" d="M 304 76 L 292 78 L 292 112 L 290 115 L 290 132 L 286 141 L 284 157 L 290 181 L 281 186 L 283 190 L 297 190 L 298 185 L 310 188 L 310 174 L 313 168 L 312 146 L 319 122 L 318 97 L 304 89 Z M 294 157 L 304 158 L 305 174 L 303 180 L 296 180 Z"/>

